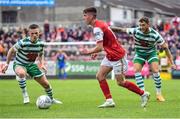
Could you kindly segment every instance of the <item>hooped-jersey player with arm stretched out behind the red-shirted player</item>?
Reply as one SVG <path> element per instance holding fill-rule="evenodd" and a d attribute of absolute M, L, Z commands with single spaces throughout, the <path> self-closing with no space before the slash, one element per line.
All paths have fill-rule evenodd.
<path fill-rule="evenodd" d="M 134 68 L 135 68 L 135 79 L 137 85 L 145 90 L 144 81 L 141 75 L 142 67 L 147 61 L 150 64 L 153 79 L 156 86 L 156 98 L 158 101 L 165 101 L 161 93 L 161 78 L 159 74 L 159 64 L 157 57 L 156 46 L 160 45 L 165 51 L 169 58 L 172 68 L 176 69 L 176 66 L 173 62 L 172 55 L 169 51 L 168 45 L 161 35 L 155 31 L 149 25 L 149 19 L 147 17 L 142 17 L 139 20 L 139 27 L 136 28 L 120 28 L 120 27 L 111 27 L 113 31 L 126 32 L 129 35 L 132 35 L 135 39 L 135 57 L 134 57 Z"/>

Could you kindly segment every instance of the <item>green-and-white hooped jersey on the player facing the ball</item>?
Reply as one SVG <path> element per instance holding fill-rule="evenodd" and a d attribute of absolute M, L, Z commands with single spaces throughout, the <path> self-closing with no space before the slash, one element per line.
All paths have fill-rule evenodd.
<path fill-rule="evenodd" d="M 19 40 L 13 47 L 16 50 L 15 62 L 22 65 L 34 63 L 38 55 L 44 52 L 43 41 L 38 39 L 32 43 L 30 37 Z"/>

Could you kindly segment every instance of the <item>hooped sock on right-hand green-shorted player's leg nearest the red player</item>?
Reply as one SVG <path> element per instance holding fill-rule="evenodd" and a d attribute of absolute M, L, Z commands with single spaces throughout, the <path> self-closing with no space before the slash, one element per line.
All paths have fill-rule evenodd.
<path fill-rule="evenodd" d="M 141 75 L 140 72 L 135 73 L 135 80 L 136 80 L 137 86 L 138 86 L 141 90 L 145 90 L 144 80 L 143 80 L 143 77 L 142 77 L 142 75 Z"/>

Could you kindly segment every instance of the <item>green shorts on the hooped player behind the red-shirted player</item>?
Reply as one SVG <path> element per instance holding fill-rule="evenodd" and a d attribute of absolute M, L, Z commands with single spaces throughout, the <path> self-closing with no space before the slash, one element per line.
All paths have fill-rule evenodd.
<path fill-rule="evenodd" d="M 146 61 L 149 64 L 151 64 L 152 62 L 159 62 L 159 59 L 158 59 L 158 56 L 157 56 L 156 53 L 151 53 L 149 55 L 139 55 L 139 54 L 136 54 L 134 59 L 133 59 L 134 63 L 138 63 L 138 64 L 141 64 L 141 65 L 144 65 L 144 63 Z"/>

